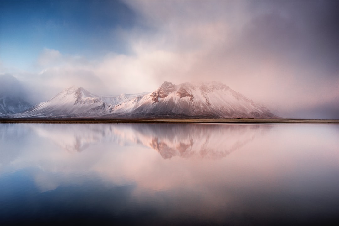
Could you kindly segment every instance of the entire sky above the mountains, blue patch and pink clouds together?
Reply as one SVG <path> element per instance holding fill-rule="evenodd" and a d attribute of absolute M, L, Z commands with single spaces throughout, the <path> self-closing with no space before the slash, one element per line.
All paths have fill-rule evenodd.
<path fill-rule="evenodd" d="M 282 117 L 339 119 L 338 12 L 338 1 L 0 1 L 0 74 L 36 103 L 72 85 L 119 95 L 220 81 Z"/>

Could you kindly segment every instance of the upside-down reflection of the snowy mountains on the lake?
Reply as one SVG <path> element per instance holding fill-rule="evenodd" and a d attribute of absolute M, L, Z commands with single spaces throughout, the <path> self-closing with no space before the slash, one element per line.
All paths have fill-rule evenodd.
<path fill-rule="evenodd" d="M 69 152 L 81 152 L 99 142 L 142 144 L 164 159 L 222 158 L 262 136 L 270 126 L 218 124 L 61 124 L 27 125 Z M 259 134 L 258 134 L 259 133 Z"/>

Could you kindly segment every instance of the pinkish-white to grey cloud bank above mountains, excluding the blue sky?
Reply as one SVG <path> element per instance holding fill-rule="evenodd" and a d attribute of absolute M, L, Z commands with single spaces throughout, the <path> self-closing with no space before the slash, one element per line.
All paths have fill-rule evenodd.
<path fill-rule="evenodd" d="M 113 37 L 106 45 L 126 51 L 93 58 L 46 46 L 34 70 L 13 75 L 39 101 L 71 85 L 116 95 L 164 81 L 220 81 L 283 117 L 338 118 L 338 2 L 123 3 L 136 19 L 105 27 Z"/>

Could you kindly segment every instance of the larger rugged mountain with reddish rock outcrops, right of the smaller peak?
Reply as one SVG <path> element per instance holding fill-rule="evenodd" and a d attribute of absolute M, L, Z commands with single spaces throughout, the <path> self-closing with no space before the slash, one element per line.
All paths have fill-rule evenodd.
<path fill-rule="evenodd" d="M 133 105 L 128 101 L 113 107 L 110 114 L 188 115 L 224 118 L 277 117 L 267 108 L 219 83 L 164 82 L 150 95 L 144 95 Z"/>

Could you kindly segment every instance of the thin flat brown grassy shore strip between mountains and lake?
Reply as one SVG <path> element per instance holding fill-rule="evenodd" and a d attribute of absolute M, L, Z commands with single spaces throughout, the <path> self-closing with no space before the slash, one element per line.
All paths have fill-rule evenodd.
<path fill-rule="evenodd" d="M 339 123 L 327 119 L 95 119 L 95 118 L 0 118 L 0 123 Z"/>

